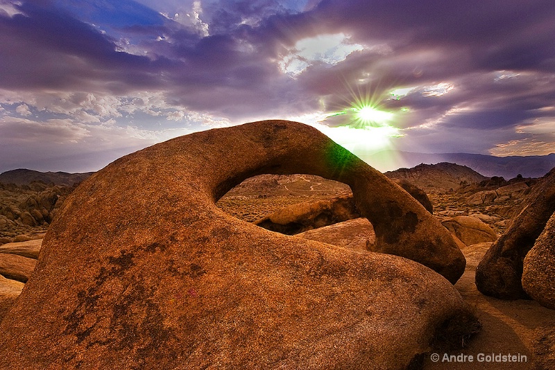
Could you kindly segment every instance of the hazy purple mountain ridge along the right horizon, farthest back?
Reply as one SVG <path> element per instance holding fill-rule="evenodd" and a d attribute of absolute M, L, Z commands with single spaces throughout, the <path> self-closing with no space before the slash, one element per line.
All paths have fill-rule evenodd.
<path fill-rule="evenodd" d="M 426 154 L 386 150 L 364 158 L 371 166 L 380 168 L 386 162 L 388 168 L 411 168 L 418 164 L 450 162 L 468 166 L 484 176 L 502 176 L 512 179 L 518 174 L 523 177 L 542 177 L 555 167 L 555 153 L 529 157 L 495 157 L 469 153 Z"/>

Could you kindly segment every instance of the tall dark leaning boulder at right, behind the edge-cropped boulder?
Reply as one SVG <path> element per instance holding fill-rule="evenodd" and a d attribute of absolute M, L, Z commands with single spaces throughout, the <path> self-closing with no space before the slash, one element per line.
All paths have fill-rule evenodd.
<path fill-rule="evenodd" d="M 533 187 L 511 226 L 488 250 L 476 270 L 476 286 L 501 299 L 529 298 L 522 289 L 524 257 L 555 212 L 555 168 Z"/>

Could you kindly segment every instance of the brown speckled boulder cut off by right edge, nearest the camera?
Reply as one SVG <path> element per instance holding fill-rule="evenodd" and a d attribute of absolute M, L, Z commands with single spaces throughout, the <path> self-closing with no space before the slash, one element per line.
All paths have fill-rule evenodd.
<path fill-rule="evenodd" d="M 555 213 L 524 258 L 522 288 L 542 306 L 555 309 Z"/>

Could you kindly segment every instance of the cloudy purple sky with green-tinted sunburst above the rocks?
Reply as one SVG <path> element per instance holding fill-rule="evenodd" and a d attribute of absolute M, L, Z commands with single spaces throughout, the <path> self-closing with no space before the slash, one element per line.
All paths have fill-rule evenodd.
<path fill-rule="evenodd" d="M 362 159 L 555 152 L 555 1 L 0 0 L 0 172 L 274 118 Z"/>

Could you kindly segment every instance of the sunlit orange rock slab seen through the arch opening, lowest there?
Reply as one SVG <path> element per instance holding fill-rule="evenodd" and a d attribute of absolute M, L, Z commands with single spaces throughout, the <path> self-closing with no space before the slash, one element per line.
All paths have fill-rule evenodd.
<path fill-rule="evenodd" d="M 296 234 L 298 238 L 316 240 L 339 247 L 371 250 L 376 240 L 372 224 L 366 218 L 355 218 L 319 229 Z"/>

